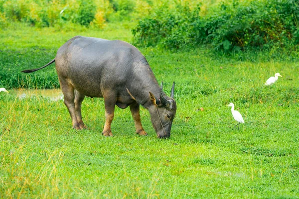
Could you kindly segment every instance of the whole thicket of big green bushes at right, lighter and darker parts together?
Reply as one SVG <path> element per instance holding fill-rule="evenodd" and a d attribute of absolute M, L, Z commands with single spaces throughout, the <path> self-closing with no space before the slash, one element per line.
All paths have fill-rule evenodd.
<path fill-rule="evenodd" d="M 222 3 L 200 16 L 200 5 L 162 4 L 133 29 L 135 43 L 166 48 L 212 44 L 225 51 L 295 48 L 299 44 L 299 1 L 260 0 Z"/>

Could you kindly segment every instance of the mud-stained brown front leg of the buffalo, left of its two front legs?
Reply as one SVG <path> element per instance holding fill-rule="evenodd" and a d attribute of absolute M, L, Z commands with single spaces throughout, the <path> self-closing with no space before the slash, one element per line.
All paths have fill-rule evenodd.
<path fill-rule="evenodd" d="M 109 93 L 109 92 L 108 92 Z M 111 132 L 111 122 L 114 117 L 114 108 L 116 103 L 117 97 L 114 95 L 104 96 L 104 103 L 105 103 L 105 126 L 103 129 L 102 134 L 104 136 L 113 136 Z"/>

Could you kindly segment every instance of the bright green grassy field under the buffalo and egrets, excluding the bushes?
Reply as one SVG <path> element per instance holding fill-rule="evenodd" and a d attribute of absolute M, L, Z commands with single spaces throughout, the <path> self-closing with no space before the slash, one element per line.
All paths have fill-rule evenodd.
<path fill-rule="evenodd" d="M 75 35 L 132 39 L 116 24 L 69 32 L 14 24 L 0 30 L 0 87 L 12 88 L 15 79 L 57 87 L 54 66 L 19 71 L 52 60 Z M 166 93 L 176 83 L 170 139 L 156 138 L 144 108 L 149 136 L 136 135 L 130 110 L 116 108 L 107 138 L 103 99 L 83 101 L 89 128 L 76 131 L 62 100 L 0 93 L 0 198 L 299 198 L 298 60 L 205 48 L 141 51 Z M 265 87 L 276 72 L 284 77 Z M 239 131 L 229 102 L 245 120 Z"/>

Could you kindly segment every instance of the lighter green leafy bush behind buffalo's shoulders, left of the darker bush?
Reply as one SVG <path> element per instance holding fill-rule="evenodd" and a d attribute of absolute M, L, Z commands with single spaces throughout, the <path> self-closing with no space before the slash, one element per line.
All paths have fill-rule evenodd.
<path fill-rule="evenodd" d="M 164 2 L 138 22 L 133 29 L 134 43 L 145 46 L 161 44 L 166 48 L 182 48 L 194 43 L 192 23 L 200 17 L 199 11 L 199 7 L 191 9 L 180 3 L 170 7 Z"/>

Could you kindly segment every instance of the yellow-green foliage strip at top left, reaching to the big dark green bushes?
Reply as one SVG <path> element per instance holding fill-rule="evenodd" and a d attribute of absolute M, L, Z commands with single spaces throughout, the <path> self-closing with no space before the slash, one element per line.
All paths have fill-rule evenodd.
<path fill-rule="evenodd" d="M 147 0 L 0 0 L 0 27 L 21 21 L 57 29 L 76 24 L 103 28 L 107 21 L 131 20 L 150 9 Z"/>

